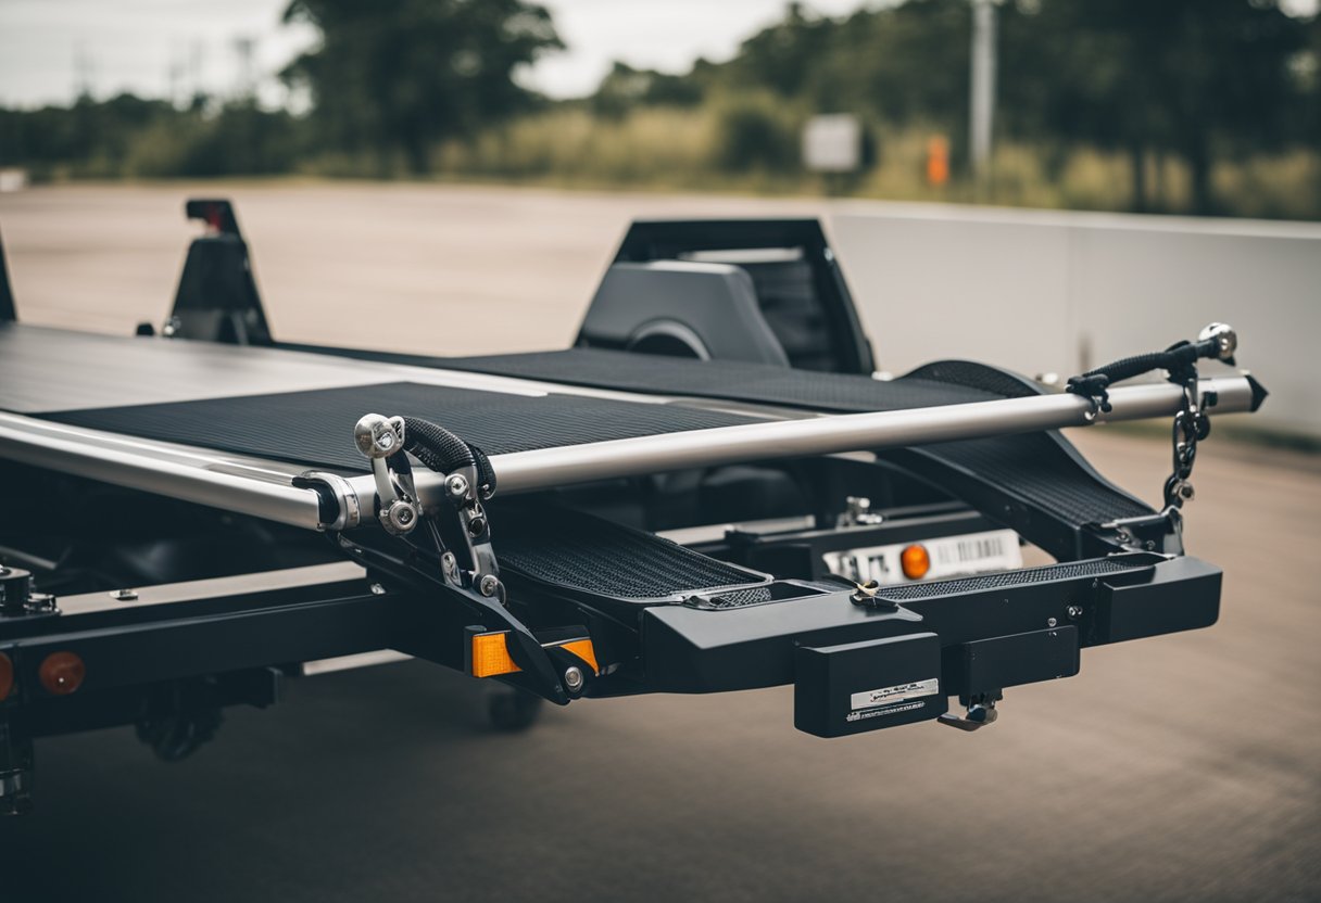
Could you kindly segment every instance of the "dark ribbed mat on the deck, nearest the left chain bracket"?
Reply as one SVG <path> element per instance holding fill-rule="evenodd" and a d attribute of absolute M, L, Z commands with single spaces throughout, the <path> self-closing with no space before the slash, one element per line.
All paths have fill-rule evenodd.
<path fill-rule="evenodd" d="M 668 404 L 506 395 L 420 383 L 62 411 L 45 418 L 272 461 L 365 471 L 370 466 L 353 444 L 353 426 L 370 412 L 432 420 L 487 454 L 758 422 Z"/>

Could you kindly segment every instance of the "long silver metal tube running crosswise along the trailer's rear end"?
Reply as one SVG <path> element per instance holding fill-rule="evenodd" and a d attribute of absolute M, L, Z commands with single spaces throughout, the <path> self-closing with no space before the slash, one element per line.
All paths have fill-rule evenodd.
<path fill-rule="evenodd" d="M 1203 379 L 1201 391 L 1203 395 L 1210 391 L 1217 393 L 1217 413 L 1252 409 L 1252 387 L 1243 376 Z M 1100 415 L 1098 422 L 1172 416 L 1182 403 L 1182 389 L 1170 383 L 1132 385 L 1111 389 L 1110 401 L 1114 409 L 1108 415 Z M 1037 395 L 939 408 L 781 420 L 497 454 L 491 455 L 491 467 L 495 470 L 499 492 L 506 495 L 687 467 L 1086 426 L 1090 422 L 1089 411 L 1089 401 L 1077 395 Z M 441 498 L 437 474 L 419 473 L 415 477 L 417 491 L 425 503 Z"/>

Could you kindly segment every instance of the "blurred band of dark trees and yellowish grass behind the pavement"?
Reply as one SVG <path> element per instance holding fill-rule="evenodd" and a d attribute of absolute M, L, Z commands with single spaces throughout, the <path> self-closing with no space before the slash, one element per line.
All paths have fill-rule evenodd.
<path fill-rule="evenodd" d="M 1321 218 L 1321 17 L 1276 0 L 1007 0 L 989 180 L 968 177 L 968 0 L 841 18 L 791 4 L 727 62 L 616 63 L 590 98 L 514 79 L 561 46 L 530 0 L 292 0 L 321 42 L 283 74 L 308 116 L 122 95 L 0 110 L 37 178 L 436 173 L 572 185 L 838 193 Z M 807 116 L 859 116 L 863 172 L 804 173 Z M 926 182 L 931 136 L 948 185 Z"/>

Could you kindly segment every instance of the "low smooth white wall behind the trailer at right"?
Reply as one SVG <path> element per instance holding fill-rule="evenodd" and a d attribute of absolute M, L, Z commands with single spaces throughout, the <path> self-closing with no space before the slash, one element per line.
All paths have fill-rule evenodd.
<path fill-rule="evenodd" d="M 1271 391 L 1254 424 L 1321 436 L 1321 224 L 857 203 L 831 238 L 885 370 L 1067 378 L 1223 321 Z"/>

